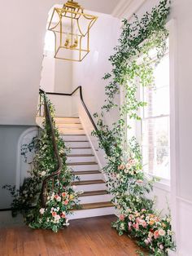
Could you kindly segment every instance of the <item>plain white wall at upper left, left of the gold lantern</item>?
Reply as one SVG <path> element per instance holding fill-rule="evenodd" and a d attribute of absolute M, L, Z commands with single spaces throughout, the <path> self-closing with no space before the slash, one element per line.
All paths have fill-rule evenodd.
<path fill-rule="evenodd" d="M 0 124 L 35 124 L 46 20 L 54 4 L 54 0 L 2 3 Z"/>

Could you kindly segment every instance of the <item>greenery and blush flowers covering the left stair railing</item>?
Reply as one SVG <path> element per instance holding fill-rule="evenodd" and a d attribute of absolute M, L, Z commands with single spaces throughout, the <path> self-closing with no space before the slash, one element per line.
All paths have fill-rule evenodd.
<path fill-rule="evenodd" d="M 24 179 L 20 190 L 15 187 L 5 186 L 14 197 L 12 208 L 16 212 L 24 215 L 25 223 L 32 228 L 51 229 L 58 232 L 59 229 L 68 226 L 68 215 L 72 214 L 72 208 L 78 205 L 78 193 L 73 190 L 72 181 L 78 179 L 72 174 L 72 170 L 66 165 L 66 155 L 68 148 L 65 147 L 63 139 L 59 135 L 59 130 L 55 127 L 54 113 L 55 109 L 50 101 L 48 102 L 50 114 L 54 124 L 55 139 L 59 149 L 59 157 L 62 159 L 63 168 L 59 179 L 55 183 L 48 183 L 46 207 L 41 208 L 41 186 L 43 179 L 55 172 L 57 161 L 53 143 L 50 138 L 50 124 L 43 122 L 43 129 L 40 130 L 38 138 L 33 138 L 29 144 L 24 144 L 21 150 L 24 160 L 27 159 L 27 153 L 34 150 L 33 168 L 29 171 L 30 177 Z M 54 185 L 54 190 L 52 189 Z"/>

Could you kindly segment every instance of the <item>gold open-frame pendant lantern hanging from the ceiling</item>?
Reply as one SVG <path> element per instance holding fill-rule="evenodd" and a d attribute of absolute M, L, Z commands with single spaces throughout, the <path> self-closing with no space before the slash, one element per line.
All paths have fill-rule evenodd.
<path fill-rule="evenodd" d="M 81 61 L 89 53 L 89 31 L 97 16 L 84 13 L 73 0 L 54 8 L 48 30 L 55 33 L 55 58 Z"/>

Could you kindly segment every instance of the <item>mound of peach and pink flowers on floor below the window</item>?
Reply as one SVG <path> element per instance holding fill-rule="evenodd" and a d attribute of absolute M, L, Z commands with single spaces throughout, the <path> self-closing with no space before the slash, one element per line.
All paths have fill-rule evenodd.
<path fill-rule="evenodd" d="M 138 245 L 150 249 L 152 255 L 168 255 L 168 250 L 175 248 L 171 218 L 160 218 L 158 214 L 151 213 L 151 210 L 127 209 L 119 215 L 113 227 L 116 227 L 120 235 L 126 232 L 136 238 Z"/>

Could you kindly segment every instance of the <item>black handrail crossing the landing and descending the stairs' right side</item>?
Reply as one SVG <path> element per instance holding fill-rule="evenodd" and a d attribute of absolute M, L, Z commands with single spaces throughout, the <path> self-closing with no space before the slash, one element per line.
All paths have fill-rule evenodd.
<path fill-rule="evenodd" d="M 88 108 L 85 105 L 84 99 L 83 99 L 83 95 L 82 95 L 82 86 L 78 86 L 76 87 L 75 90 L 72 91 L 72 93 L 60 93 L 60 92 L 46 92 L 46 95 L 60 95 L 60 96 L 72 96 L 76 93 L 76 90 L 80 90 L 80 99 L 81 99 L 81 103 L 85 109 L 85 112 L 87 113 L 89 120 L 91 121 L 92 125 L 94 126 L 94 130 L 96 132 L 98 132 L 98 127 L 95 125 L 93 118 L 91 117 L 91 114 L 89 113 Z"/>

